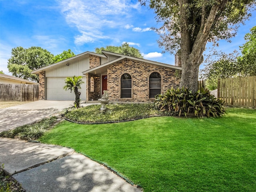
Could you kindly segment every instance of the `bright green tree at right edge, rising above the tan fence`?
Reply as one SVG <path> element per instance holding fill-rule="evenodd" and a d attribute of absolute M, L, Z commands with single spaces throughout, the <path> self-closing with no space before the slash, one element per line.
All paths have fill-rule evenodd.
<path fill-rule="evenodd" d="M 256 26 L 250 32 L 244 36 L 247 42 L 240 46 L 242 56 L 237 58 L 243 76 L 256 76 Z"/>

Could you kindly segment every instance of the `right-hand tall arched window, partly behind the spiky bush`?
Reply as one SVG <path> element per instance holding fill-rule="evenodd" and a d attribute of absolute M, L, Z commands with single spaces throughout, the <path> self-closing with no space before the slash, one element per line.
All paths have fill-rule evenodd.
<path fill-rule="evenodd" d="M 149 98 L 154 98 L 156 94 L 161 94 L 161 75 L 153 72 L 149 76 Z"/>

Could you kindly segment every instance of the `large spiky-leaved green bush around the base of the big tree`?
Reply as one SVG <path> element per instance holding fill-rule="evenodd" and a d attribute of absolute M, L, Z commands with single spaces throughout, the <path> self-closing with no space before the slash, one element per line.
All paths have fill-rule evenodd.
<path fill-rule="evenodd" d="M 160 111 L 169 111 L 174 116 L 221 116 L 225 113 L 224 101 L 215 98 L 210 91 L 201 88 L 195 94 L 186 88 L 169 89 L 164 94 L 158 94 L 154 105 Z"/>

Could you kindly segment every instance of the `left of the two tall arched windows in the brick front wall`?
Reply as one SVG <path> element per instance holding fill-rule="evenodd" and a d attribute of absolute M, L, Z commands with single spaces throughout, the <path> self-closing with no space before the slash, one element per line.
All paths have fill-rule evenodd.
<path fill-rule="evenodd" d="M 125 73 L 121 77 L 121 98 L 132 97 L 132 77 Z"/>

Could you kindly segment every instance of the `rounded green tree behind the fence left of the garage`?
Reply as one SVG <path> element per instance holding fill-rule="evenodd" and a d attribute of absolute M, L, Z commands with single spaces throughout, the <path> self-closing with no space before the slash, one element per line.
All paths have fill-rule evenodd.
<path fill-rule="evenodd" d="M 38 82 L 38 76 L 31 72 L 52 64 L 53 57 L 53 54 L 41 47 L 32 46 L 28 49 L 16 47 L 12 48 L 12 56 L 8 59 L 7 68 L 15 77 Z"/>

